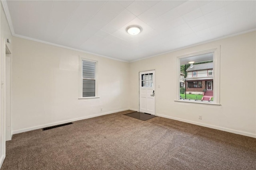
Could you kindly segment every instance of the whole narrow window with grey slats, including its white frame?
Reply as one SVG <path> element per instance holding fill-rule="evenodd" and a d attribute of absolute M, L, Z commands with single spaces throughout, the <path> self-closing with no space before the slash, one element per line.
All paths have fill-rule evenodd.
<path fill-rule="evenodd" d="M 97 61 L 80 58 L 79 98 L 95 98 L 97 95 Z"/>

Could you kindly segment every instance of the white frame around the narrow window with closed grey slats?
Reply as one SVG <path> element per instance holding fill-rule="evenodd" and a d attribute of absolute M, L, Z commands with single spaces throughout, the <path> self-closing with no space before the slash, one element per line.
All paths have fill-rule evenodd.
<path fill-rule="evenodd" d="M 82 61 L 89 61 L 89 62 L 95 63 L 95 96 L 92 96 L 92 97 L 83 97 Z M 98 61 L 79 56 L 79 94 L 78 94 L 78 99 L 94 99 L 94 98 L 99 98 L 98 97 Z"/>

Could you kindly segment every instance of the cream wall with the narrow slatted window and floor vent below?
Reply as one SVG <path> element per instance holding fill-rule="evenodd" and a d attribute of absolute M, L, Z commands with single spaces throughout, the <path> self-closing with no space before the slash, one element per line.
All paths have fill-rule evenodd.
<path fill-rule="evenodd" d="M 18 37 L 12 56 L 14 134 L 129 108 L 129 63 Z M 98 99 L 78 100 L 79 56 L 98 61 Z"/>

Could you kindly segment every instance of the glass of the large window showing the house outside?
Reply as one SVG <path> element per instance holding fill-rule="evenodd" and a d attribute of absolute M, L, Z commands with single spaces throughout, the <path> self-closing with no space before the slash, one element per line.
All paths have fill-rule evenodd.
<path fill-rule="evenodd" d="M 213 102 L 213 55 L 214 53 L 206 53 L 179 59 L 179 82 L 184 82 L 184 86 L 179 87 L 179 100 Z M 180 75 L 183 74 L 182 78 Z M 211 82 L 210 86 L 208 82 Z"/>

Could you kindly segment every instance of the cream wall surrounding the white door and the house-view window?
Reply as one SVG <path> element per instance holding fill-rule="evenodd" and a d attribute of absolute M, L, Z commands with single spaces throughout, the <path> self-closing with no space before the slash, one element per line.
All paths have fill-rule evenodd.
<path fill-rule="evenodd" d="M 220 47 L 221 46 L 221 47 Z M 220 104 L 174 102 L 177 57 L 220 47 Z M 156 70 L 156 115 L 256 137 L 256 32 L 130 63 L 130 108 L 138 110 L 138 72 Z M 202 115 L 202 120 L 198 119 Z"/>

